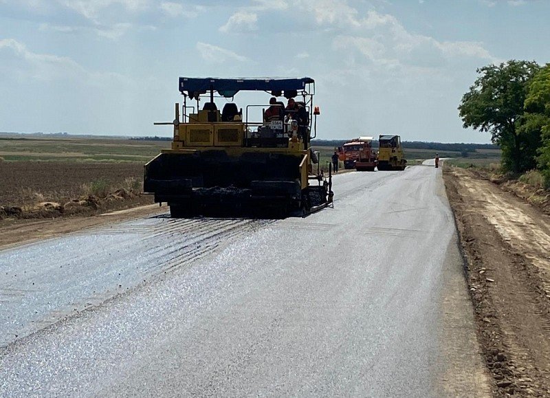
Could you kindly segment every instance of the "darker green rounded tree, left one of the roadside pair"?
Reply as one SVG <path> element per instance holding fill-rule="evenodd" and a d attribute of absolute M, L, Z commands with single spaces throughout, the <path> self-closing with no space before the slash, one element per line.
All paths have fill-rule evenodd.
<path fill-rule="evenodd" d="M 464 128 L 491 133 L 492 142 L 503 150 L 503 167 L 515 173 L 535 164 L 533 132 L 520 127 L 525 122 L 527 83 L 539 69 L 537 63 L 524 60 L 477 69 L 479 76 L 459 105 Z"/>

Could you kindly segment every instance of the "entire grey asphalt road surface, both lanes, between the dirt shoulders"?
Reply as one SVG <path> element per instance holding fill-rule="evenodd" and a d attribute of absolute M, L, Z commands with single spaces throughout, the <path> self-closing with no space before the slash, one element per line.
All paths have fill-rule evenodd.
<path fill-rule="evenodd" d="M 137 219 L 0 251 L 0 396 L 487 393 L 441 171 L 304 219 Z"/>

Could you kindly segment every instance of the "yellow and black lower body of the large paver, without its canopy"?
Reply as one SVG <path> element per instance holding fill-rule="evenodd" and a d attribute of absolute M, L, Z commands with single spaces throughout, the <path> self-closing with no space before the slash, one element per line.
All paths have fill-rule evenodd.
<path fill-rule="evenodd" d="M 293 134 L 282 120 L 248 122 L 248 114 L 243 120 L 236 107 L 228 117 L 225 108 L 215 109 L 213 91 L 204 104 L 208 109 L 186 114 L 184 105 L 182 122 L 176 104 L 171 148 L 145 165 L 146 193 L 168 203 L 173 217 L 243 212 L 262 217 L 266 209 L 285 217 L 331 202 L 331 176 L 327 181 L 311 166 L 316 161 L 311 124 Z"/>

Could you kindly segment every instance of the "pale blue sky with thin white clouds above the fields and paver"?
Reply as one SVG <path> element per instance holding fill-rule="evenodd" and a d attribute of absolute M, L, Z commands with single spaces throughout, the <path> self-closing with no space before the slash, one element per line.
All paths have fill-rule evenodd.
<path fill-rule="evenodd" d="M 179 76 L 310 76 L 322 138 L 489 142 L 476 67 L 550 62 L 546 0 L 0 0 L 0 131 L 170 135 Z M 256 93 L 237 94 L 267 102 Z"/>

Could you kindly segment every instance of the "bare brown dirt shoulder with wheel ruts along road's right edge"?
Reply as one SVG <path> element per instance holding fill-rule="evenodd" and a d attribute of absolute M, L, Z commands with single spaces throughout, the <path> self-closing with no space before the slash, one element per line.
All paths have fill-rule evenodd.
<path fill-rule="evenodd" d="M 550 217 L 472 170 L 443 177 L 494 392 L 548 397 Z"/>

